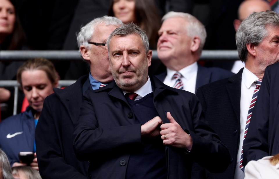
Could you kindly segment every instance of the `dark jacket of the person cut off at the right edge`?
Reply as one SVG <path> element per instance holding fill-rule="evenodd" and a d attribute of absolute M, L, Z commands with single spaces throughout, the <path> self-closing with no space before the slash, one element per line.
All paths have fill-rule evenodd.
<path fill-rule="evenodd" d="M 279 153 L 279 63 L 268 66 L 243 144 L 245 166 L 251 160 Z"/>

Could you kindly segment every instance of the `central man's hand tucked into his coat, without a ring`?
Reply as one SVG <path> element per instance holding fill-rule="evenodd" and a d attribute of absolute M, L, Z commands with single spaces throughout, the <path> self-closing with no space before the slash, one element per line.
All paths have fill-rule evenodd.
<path fill-rule="evenodd" d="M 159 116 L 149 120 L 140 127 L 140 134 L 142 137 L 155 137 L 160 136 L 160 126 L 163 124 Z"/>

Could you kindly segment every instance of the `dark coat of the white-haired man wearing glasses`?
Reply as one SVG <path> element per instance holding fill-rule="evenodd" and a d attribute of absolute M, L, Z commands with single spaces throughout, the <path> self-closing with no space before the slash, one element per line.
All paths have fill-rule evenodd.
<path fill-rule="evenodd" d="M 83 101 L 83 84 L 86 86 L 87 83 L 88 75 L 65 89 L 54 89 L 54 93 L 44 100 L 35 130 L 42 178 L 86 178 L 89 163 L 76 159 L 72 135 Z"/>

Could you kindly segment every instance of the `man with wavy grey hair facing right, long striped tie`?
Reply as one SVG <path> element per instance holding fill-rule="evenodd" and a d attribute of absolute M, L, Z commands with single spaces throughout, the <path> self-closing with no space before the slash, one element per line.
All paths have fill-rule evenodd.
<path fill-rule="evenodd" d="M 244 178 L 242 144 L 251 114 L 268 65 L 279 61 L 279 15 L 272 11 L 253 12 L 236 32 L 239 59 L 245 67 L 230 78 L 204 85 L 197 90 L 205 119 L 226 144 L 231 164 L 212 178 Z M 249 133 L 249 131 L 248 131 Z"/>

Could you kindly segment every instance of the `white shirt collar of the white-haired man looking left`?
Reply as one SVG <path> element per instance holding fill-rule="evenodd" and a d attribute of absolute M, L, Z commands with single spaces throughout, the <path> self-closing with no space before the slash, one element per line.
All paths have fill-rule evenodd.
<path fill-rule="evenodd" d="M 196 74 L 197 71 L 198 71 L 198 63 L 195 62 L 195 63 L 192 63 L 191 65 L 188 65 L 187 67 L 182 68 L 178 72 L 180 74 L 182 74 L 182 76 L 186 80 L 189 80 L 193 75 Z M 171 79 L 174 76 L 175 73 L 176 73 L 176 71 L 167 68 L 167 77 L 168 78 Z"/>

